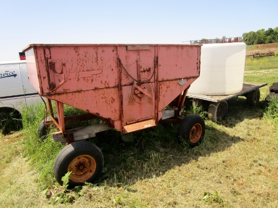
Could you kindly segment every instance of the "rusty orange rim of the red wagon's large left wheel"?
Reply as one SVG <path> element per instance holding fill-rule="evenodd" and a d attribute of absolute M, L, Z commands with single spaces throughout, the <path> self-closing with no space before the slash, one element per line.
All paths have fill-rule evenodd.
<path fill-rule="evenodd" d="M 90 155 L 80 155 L 76 157 L 68 166 L 70 180 L 73 182 L 84 182 L 88 180 L 96 171 L 96 161 Z"/>

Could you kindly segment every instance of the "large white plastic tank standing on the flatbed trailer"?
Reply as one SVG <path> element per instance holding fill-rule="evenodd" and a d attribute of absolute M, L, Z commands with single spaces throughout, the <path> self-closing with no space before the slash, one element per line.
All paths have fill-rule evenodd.
<path fill-rule="evenodd" d="M 201 47 L 200 77 L 188 92 L 226 95 L 242 90 L 246 44 L 212 43 Z"/>

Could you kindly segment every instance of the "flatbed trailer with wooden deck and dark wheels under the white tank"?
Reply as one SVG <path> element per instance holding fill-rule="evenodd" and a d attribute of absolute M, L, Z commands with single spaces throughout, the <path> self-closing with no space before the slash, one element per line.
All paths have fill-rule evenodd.
<path fill-rule="evenodd" d="M 228 111 L 227 100 L 237 96 L 245 96 L 250 106 L 256 106 L 260 100 L 260 87 L 267 83 L 244 82 L 240 92 L 228 95 L 203 95 L 195 93 L 187 93 L 188 97 L 193 98 L 193 106 L 202 106 L 208 112 L 211 121 L 216 122 L 222 120 Z"/>

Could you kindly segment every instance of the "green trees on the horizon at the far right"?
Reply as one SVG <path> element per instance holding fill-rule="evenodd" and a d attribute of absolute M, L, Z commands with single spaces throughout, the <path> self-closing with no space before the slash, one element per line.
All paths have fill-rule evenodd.
<path fill-rule="evenodd" d="M 278 27 L 243 33 L 243 42 L 247 45 L 278 42 Z"/>

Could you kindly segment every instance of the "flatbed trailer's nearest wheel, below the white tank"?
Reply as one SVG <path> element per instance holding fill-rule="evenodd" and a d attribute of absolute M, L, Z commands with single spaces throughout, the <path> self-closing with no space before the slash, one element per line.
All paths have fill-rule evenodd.
<path fill-rule="evenodd" d="M 211 121 L 221 121 L 228 112 L 228 104 L 226 101 L 211 102 L 208 109 L 208 117 Z"/>

